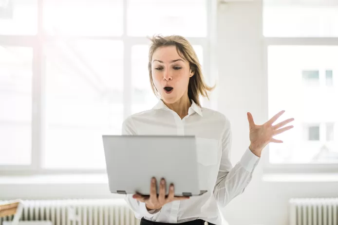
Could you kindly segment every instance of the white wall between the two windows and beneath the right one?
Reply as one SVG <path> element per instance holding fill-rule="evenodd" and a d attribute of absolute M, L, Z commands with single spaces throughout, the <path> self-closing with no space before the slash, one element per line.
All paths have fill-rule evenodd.
<path fill-rule="evenodd" d="M 249 145 L 246 112 L 256 123 L 268 120 L 262 2 L 229 3 L 218 13 L 218 109 L 232 123 L 235 164 Z M 264 156 L 244 193 L 222 210 L 230 225 L 287 225 L 289 198 L 338 196 L 337 182 L 263 182 Z"/>

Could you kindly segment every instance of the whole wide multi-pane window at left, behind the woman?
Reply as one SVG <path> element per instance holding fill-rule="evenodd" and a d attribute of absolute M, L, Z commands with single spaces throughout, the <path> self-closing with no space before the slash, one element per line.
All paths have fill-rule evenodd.
<path fill-rule="evenodd" d="M 209 83 L 209 4 L 1 3 L 1 173 L 103 171 L 102 135 L 120 134 L 126 117 L 158 101 L 150 88 L 147 37 L 187 37 Z"/>

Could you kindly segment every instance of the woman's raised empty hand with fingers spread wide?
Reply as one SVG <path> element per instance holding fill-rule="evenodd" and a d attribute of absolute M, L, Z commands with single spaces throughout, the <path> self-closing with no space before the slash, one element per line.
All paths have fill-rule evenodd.
<path fill-rule="evenodd" d="M 293 128 L 293 126 L 285 126 L 291 121 L 294 121 L 294 118 L 287 119 L 282 121 L 276 125 L 273 125 L 277 119 L 282 116 L 285 111 L 277 113 L 273 116 L 269 121 L 265 122 L 262 125 L 256 125 L 251 113 L 247 113 L 247 119 L 249 121 L 249 129 L 250 129 L 250 147 L 249 149 L 256 155 L 261 157 L 262 151 L 264 147 L 271 142 L 274 143 L 282 143 L 282 140 L 278 140 L 273 138 L 275 135 L 281 134 L 287 130 Z"/>

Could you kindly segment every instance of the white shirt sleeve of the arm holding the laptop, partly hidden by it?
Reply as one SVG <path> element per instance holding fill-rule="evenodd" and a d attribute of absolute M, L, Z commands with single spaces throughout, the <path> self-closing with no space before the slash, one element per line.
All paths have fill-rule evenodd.
<path fill-rule="evenodd" d="M 137 135 L 131 118 L 128 118 L 122 123 L 122 135 Z M 144 202 L 133 199 L 132 195 L 133 194 L 127 194 L 125 197 L 125 201 L 133 210 L 137 219 L 142 219 L 143 217 L 152 218 L 154 215 L 161 211 L 157 209 L 148 211 L 148 209 L 146 208 L 146 204 Z"/>

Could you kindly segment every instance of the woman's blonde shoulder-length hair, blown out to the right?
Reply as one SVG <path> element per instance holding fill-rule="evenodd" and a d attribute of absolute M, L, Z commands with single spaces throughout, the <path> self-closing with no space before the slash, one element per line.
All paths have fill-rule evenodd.
<path fill-rule="evenodd" d="M 171 36 L 161 36 L 156 35 L 150 38 L 151 45 L 149 49 L 149 77 L 152 91 L 156 96 L 159 95 L 154 82 L 152 80 L 151 73 L 151 60 L 154 52 L 164 46 L 176 46 L 177 53 L 185 60 L 189 62 L 189 66 L 194 75 L 190 77 L 188 84 L 188 98 L 193 100 L 197 105 L 201 106 L 199 96 L 208 97 L 208 91 L 214 89 L 214 87 L 209 87 L 204 81 L 201 64 L 197 58 L 196 52 L 192 48 L 191 44 L 188 42 L 186 38 L 179 35 L 171 35 Z"/>

